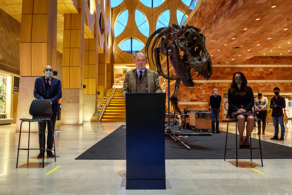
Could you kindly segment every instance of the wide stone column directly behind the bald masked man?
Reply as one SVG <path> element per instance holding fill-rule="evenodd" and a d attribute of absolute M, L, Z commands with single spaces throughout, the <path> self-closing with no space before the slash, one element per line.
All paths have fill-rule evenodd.
<path fill-rule="evenodd" d="M 47 65 L 56 65 L 57 1 L 22 0 L 20 27 L 20 82 L 16 132 L 21 118 L 32 118 L 29 107 L 34 99 L 37 77 L 44 76 Z M 28 132 L 28 123 L 22 125 Z M 31 132 L 38 132 L 37 123 L 31 124 Z"/>

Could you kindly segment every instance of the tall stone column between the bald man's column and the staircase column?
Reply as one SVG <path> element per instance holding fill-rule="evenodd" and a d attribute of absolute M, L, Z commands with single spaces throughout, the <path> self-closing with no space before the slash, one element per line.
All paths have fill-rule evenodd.
<path fill-rule="evenodd" d="M 84 2 L 78 14 L 64 15 L 62 125 L 83 124 Z"/>

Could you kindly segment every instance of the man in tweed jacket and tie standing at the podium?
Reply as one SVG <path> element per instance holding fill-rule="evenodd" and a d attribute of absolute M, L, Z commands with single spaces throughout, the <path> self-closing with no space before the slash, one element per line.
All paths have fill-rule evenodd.
<path fill-rule="evenodd" d="M 122 95 L 126 101 L 126 93 L 162 93 L 159 74 L 156 71 L 146 69 L 148 56 L 144 52 L 134 54 L 136 69 L 125 74 Z"/>

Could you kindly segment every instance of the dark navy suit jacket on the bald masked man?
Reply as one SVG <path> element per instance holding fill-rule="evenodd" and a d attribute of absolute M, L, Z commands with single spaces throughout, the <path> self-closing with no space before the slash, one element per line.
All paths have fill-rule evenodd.
<path fill-rule="evenodd" d="M 45 76 L 38 77 L 35 82 L 34 97 L 36 99 L 44 99 L 45 96 Z M 62 97 L 61 82 L 59 79 L 52 77 L 51 93 L 49 97 L 52 102 L 53 113 L 58 112 L 58 100 Z"/>

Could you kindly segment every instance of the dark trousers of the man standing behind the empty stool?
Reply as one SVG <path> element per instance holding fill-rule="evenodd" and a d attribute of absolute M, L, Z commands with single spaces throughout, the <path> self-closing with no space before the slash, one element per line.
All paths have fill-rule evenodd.
<path fill-rule="evenodd" d="M 55 132 L 55 123 L 56 123 L 56 117 L 57 117 L 57 112 L 53 113 L 51 117 L 51 121 L 53 123 L 53 128 L 51 122 L 38 122 L 38 143 L 39 143 L 39 148 L 46 148 L 45 147 L 45 142 L 46 142 L 46 134 L 44 134 L 44 143 L 42 142 L 42 134 L 43 132 L 46 132 L 46 126 L 48 124 L 48 137 L 47 137 L 47 149 L 52 150 L 53 149 L 53 132 Z M 42 147 L 42 144 L 44 146 Z M 41 151 L 41 150 L 39 150 Z"/>

